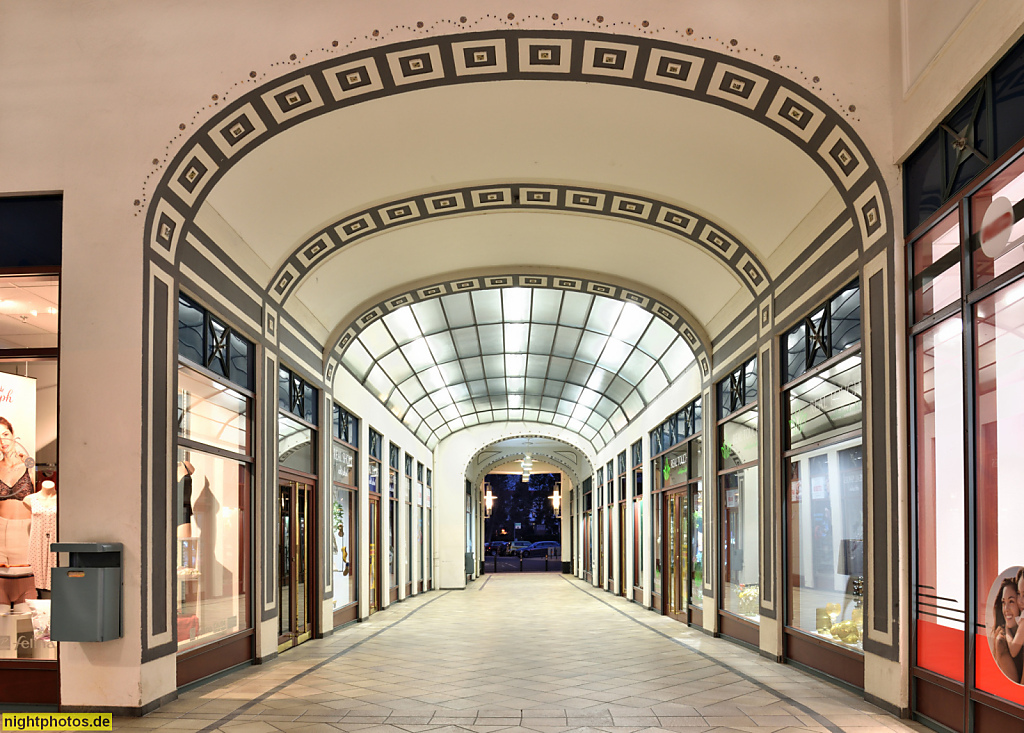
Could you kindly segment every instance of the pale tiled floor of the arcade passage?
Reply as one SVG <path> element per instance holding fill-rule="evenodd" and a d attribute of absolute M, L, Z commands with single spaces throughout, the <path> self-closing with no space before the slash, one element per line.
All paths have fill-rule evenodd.
<path fill-rule="evenodd" d="M 115 730 L 924 731 L 557 574 L 412 598 Z"/>

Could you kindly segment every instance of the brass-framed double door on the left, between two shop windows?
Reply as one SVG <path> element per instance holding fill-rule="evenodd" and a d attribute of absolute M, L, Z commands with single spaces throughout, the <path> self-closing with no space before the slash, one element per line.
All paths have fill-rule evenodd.
<path fill-rule="evenodd" d="M 313 487 L 281 481 L 278 490 L 278 651 L 309 639 L 313 629 Z"/>

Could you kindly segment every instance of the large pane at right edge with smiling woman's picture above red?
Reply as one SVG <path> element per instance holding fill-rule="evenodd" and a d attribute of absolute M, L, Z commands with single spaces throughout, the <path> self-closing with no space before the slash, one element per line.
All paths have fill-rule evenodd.
<path fill-rule="evenodd" d="M 979 690 L 1024 704 L 1024 282 L 975 306 Z M 984 626 L 982 626 L 984 624 Z"/>

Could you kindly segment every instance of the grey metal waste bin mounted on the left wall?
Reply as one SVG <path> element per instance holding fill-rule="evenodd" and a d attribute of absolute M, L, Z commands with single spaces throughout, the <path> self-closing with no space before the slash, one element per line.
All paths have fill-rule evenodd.
<path fill-rule="evenodd" d="M 121 543 L 53 543 L 68 567 L 50 573 L 50 639 L 110 641 L 121 631 Z"/>

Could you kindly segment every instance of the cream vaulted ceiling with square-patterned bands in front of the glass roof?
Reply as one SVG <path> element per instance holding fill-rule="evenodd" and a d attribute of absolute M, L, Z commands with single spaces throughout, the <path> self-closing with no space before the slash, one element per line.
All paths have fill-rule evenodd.
<path fill-rule="evenodd" d="M 147 238 L 173 258 L 202 208 L 231 232 L 221 249 L 265 274 L 268 301 L 292 299 L 325 342 L 386 294 L 473 268 L 643 283 L 707 328 L 737 298 L 753 305 L 787 264 L 773 253 L 829 192 L 865 241 L 884 233 L 891 216 L 862 148 L 820 100 L 738 58 L 599 34 L 434 37 L 300 69 L 237 100 L 172 163 Z M 561 206 L 384 225 L 391 204 L 523 184 L 560 188 Z M 735 248 L 721 256 L 652 219 L 573 210 L 571 189 L 652 202 L 655 218 L 689 212 Z M 370 211 L 379 233 L 344 242 L 336 224 Z M 315 236 L 332 227 L 321 258 Z M 290 272 L 305 252 L 319 259 Z"/>

